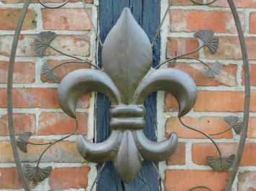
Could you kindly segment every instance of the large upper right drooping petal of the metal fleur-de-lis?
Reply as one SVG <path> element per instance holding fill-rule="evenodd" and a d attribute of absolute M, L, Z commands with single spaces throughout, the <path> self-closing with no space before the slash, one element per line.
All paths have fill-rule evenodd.
<path fill-rule="evenodd" d="M 180 106 L 180 117 L 185 116 L 195 105 L 196 85 L 182 70 L 172 68 L 153 70 L 138 86 L 134 102 L 142 104 L 150 93 L 158 90 L 167 91 L 175 96 Z"/>

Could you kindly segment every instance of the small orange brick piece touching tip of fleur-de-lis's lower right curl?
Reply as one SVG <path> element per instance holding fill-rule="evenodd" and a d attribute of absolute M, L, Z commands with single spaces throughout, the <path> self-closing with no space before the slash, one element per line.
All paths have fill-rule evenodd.
<path fill-rule="evenodd" d="M 172 157 L 167 159 L 167 165 L 184 165 L 186 163 L 186 144 L 185 143 L 178 143 L 177 150 Z"/>

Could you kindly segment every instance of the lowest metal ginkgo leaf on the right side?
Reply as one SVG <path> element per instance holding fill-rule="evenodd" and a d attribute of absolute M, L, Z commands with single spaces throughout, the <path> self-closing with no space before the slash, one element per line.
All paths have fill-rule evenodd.
<path fill-rule="evenodd" d="M 225 171 L 232 167 L 235 157 L 234 154 L 229 157 L 207 157 L 207 162 L 214 171 Z"/>

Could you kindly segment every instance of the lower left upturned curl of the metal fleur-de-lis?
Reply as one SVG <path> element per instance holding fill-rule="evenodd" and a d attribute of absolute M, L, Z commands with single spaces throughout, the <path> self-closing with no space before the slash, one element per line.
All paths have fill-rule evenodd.
<path fill-rule="evenodd" d="M 110 137 L 102 143 L 92 143 L 84 136 L 78 136 L 76 140 L 77 149 L 81 157 L 89 162 L 102 163 L 112 160 L 118 152 L 122 133 L 112 131 Z"/>

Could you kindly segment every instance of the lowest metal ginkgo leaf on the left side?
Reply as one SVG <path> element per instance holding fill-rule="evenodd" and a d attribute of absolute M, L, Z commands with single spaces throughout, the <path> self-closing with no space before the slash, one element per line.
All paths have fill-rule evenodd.
<path fill-rule="evenodd" d="M 50 166 L 45 168 L 33 167 L 31 164 L 24 164 L 23 168 L 28 179 L 35 182 L 42 182 L 48 178 L 53 169 Z"/>

